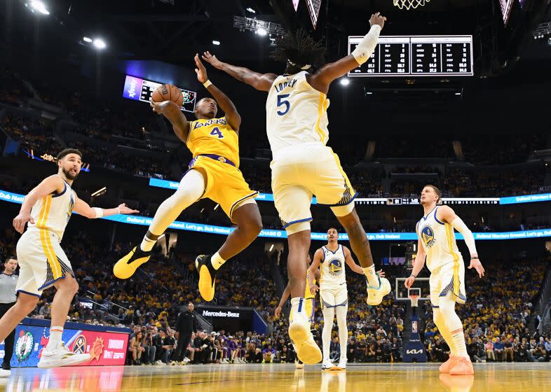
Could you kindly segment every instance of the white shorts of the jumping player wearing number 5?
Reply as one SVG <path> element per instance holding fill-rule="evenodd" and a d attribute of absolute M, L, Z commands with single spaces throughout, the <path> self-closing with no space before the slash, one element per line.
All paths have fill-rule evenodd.
<path fill-rule="evenodd" d="M 318 204 L 332 207 L 337 216 L 349 214 L 353 208 L 358 193 L 339 157 L 323 144 L 298 144 L 276 151 L 271 169 L 275 209 L 283 228 L 312 220 L 313 195 Z"/>

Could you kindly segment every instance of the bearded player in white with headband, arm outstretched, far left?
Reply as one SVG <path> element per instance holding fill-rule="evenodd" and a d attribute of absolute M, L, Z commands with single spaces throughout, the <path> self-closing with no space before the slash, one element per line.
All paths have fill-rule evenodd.
<path fill-rule="evenodd" d="M 25 196 L 19 215 L 13 219 L 13 227 L 22 233 L 17 245 L 21 267 L 16 287 L 18 300 L 0 319 L 0 342 L 36 307 L 42 291 L 54 286 L 50 339 L 38 363 L 42 368 L 76 365 L 90 359 L 87 353 L 69 351 L 62 341 L 63 325 L 79 290 L 71 263 L 60 246 L 72 212 L 86 218 L 138 212 L 125 204 L 114 209 L 91 208 L 76 197 L 71 186 L 81 171 L 81 157 L 72 148 L 59 153 L 57 174 L 44 179 Z"/>

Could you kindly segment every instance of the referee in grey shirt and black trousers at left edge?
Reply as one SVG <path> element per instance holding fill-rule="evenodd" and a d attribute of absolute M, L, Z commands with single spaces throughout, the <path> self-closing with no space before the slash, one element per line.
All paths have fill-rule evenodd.
<path fill-rule="evenodd" d="M 15 256 L 8 257 L 4 262 L 4 272 L 0 274 L 0 317 L 15 304 L 15 286 L 18 283 L 18 275 L 15 275 L 15 269 L 18 268 L 18 260 Z M 13 342 L 15 340 L 15 328 L 11 334 L 4 340 L 4 362 L 3 370 L 11 370 L 10 360 L 13 354 Z"/>

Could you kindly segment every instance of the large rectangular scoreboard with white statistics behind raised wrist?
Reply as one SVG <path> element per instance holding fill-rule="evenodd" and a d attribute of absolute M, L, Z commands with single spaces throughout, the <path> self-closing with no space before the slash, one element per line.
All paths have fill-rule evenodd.
<path fill-rule="evenodd" d="M 363 36 L 348 37 L 350 54 Z M 472 76 L 472 36 L 381 36 L 348 76 Z"/>

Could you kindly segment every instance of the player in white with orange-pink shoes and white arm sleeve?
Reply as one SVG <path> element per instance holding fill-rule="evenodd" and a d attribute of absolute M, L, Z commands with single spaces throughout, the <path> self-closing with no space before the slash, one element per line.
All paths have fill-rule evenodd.
<path fill-rule="evenodd" d="M 437 206 L 440 190 L 425 186 L 421 192 L 421 205 L 425 216 L 416 225 L 419 237 L 413 271 L 404 282 L 409 289 L 415 277 L 425 265 L 430 270 L 430 304 L 433 307 L 435 325 L 448 344 L 449 360 L 440 366 L 440 372 L 470 375 L 474 374 L 472 363 L 465 347 L 463 323 L 456 314 L 456 302 L 464 304 L 465 265 L 459 252 L 454 229 L 465 239 L 470 252 L 469 269 L 475 268 L 479 277 L 484 276 L 484 267 L 478 259 L 475 238 L 465 223 L 448 206 Z"/>

